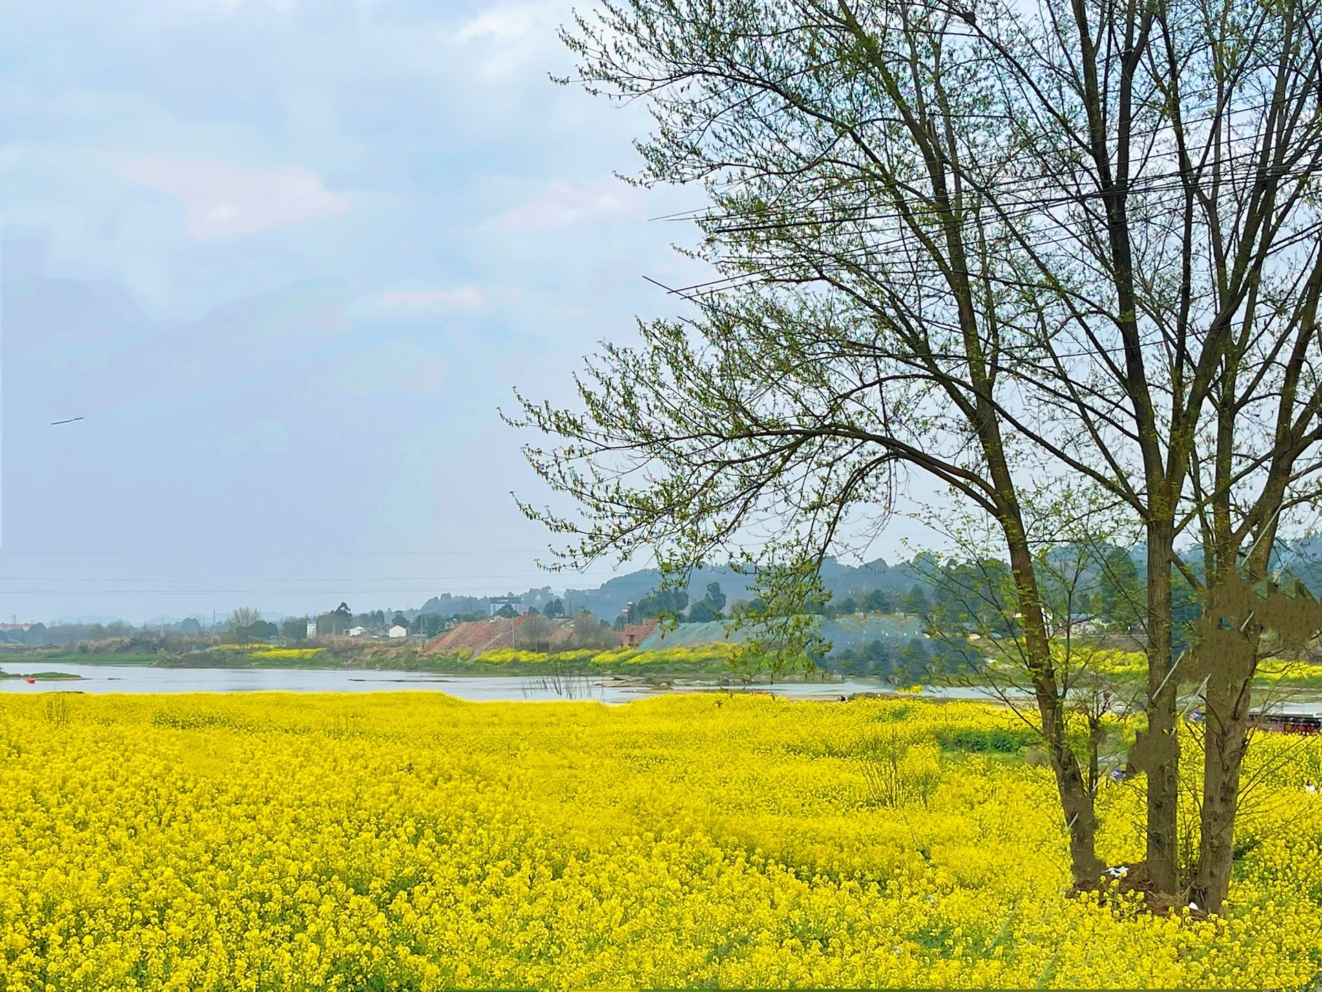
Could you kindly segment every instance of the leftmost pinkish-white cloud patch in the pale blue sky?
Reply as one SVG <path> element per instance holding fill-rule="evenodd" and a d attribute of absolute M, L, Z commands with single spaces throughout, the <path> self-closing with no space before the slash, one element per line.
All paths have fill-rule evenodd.
<path fill-rule="evenodd" d="M 350 205 L 316 173 L 301 168 L 245 169 L 223 161 L 135 159 L 115 175 L 163 193 L 184 205 L 184 233 L 190 238 L 254 234 L 292 227 L 315 217 L 336 217 Z"/>

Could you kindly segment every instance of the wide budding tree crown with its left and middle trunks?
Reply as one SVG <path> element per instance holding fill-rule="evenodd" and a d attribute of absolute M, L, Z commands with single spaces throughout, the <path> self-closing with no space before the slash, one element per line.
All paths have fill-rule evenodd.
<path fill-rule="evenodd" d="M 1096 783 L 1035 556 L 1088 489 L 1146 536 L 1147 860 L 1175 893 L 1173 570 L 1261 577 L 1315 483 L 1319 26 L 1241 0 L 580 17 L 582 81 L 656 119 L 639 181 L 705 184 L 714 272 L 676 287 L 691 316 L 603 345 L 579 409 L 525 402 L 557 438 L 531 463 L 583 508 L 529 512 L 571 563 L 743 554 L 802 591 L 912 477 L 948 489 L 1003 541 L 1083 882 Z"/>

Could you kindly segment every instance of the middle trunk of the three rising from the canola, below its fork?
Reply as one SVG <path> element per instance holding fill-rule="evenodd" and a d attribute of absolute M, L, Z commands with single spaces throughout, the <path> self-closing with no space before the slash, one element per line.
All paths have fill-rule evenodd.
<path fill-rule="evenodd" d="M 1171 558 L 1174 528 L 1147 526 L 1147 874 L 1157 891 L 1179 890 L 1179 738 L 1175 701 L 1179 673 L 1171 673 Z"/>

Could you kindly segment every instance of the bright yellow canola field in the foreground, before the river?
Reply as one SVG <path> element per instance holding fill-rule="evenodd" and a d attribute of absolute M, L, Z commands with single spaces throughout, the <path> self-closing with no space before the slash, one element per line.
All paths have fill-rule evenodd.
<path fill-rule="evenodd" d="M 0 989 L 1317 983 L 1322 741 L 1255 738 L 1192 919 L 1064 895 L 1021 738 L 916 701 L 7 698 Z M 1138 788 L 1101 792 L 1110 864 Z"/>

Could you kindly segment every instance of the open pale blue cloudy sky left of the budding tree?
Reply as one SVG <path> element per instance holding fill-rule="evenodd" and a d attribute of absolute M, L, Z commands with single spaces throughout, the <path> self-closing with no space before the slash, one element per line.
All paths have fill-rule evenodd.
<path fill-rule="evenodd" d="M 616 179 L 649 122 L 550 81 L 570 17 L 0 0 L 0 620 L 611 575 L 538 571 L 497 407 L 680 312 L 703 197 Z"/>

